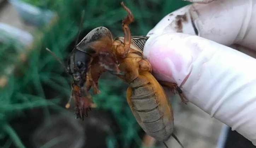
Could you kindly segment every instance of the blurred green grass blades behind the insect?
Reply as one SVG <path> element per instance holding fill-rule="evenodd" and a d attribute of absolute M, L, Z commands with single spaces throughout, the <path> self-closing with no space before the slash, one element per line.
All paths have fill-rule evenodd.
<path fill-rule="evenodd" d="M 5 140 L 3 148 L 14 143 L 18 148 L 24 148 L 22 141 L 10 122 L 17 117 L 25 116 L 25 110 L 41 107 L 44 116 L 49 116 L 50 109 L 63 112 L 59 106 L 70 96 L 71 77 L 45 51 L 51 49 L 63 61 L 66 61 L 78 32 L 82 10 L 85 10 L 82 34 L 95 27 L 105 26 L 114 37 L 123 36 L 121 22 L 126 12 L 121 7 L 120 0 L 24 0 L 41 8 L 54 11 L 58 17 L 48 26 L 34 32 L 33 48 L 25 49 L 17 41 L 8 40 L 0 44 L 0 78 L 7 76 L 8 83 L 0 88 L 0 140 Z M 166 14 L 188 4 L 180 0 L 124 0 L 135 17 L 130 25 L 132 35 L 146 35 Z M 39 38 L 39 39 L 38 39 Z M 14 44 L 15 43 L 15 44 Z M 71 46 L 70 46 L 71 45 Z M 21 55 L 25 55 L 22 61 Z M 11 72 L 8 73 L 8 70 Z M 111 85 L 110 85 L 111 84 Z M 107 138 L 109 148 L 118 147 L 118 141 L 123 147 L 141 145 L 138 132 L 141 130 L 136 123 L 126 102 L 127 85 L 113 76 L 105 76 L 100 80 L 101 93 L 93 96 L 100 109 L 112 112 L 121 130 L 120 134 L 110 134 Z M 54 95 L 47 95 L 50 88 Z M 47 99 L 46 99 L 47 98 Z"/>

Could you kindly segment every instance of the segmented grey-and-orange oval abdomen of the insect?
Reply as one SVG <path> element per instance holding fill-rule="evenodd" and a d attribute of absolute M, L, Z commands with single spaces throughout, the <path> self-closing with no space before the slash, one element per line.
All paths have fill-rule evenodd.
<path fill-rule="evenodd" d="M 149 72 L 130 82 L 127 101 L 147 134 L 158 141 L 168 140 L 173 132 L 173 112 L 162 86 Z"/>

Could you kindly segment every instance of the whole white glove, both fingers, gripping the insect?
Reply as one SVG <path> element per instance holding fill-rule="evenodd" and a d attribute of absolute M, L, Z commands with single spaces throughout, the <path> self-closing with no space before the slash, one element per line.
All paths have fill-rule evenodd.
<path fill-rule="evenodd" d="M 256 145 L 256 1 L 194 1 L 212 2 L 165 16 L 144 55 L 158 80 L 176 82 L 191 103 Z"/>

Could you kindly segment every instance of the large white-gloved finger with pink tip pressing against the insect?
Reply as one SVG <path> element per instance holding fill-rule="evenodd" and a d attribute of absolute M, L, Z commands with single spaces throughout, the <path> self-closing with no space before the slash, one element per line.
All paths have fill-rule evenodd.
<path fill-rule="evenodd" d="M 144 47 L 158 80 L 256 145 L 256 59 L 184 33 L 151 36 Z"/>

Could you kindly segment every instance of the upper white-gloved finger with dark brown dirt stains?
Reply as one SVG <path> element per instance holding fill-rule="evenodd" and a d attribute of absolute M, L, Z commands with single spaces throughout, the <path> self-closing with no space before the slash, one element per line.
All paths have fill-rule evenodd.
<path fill-rule="evenodd" d="M 180 8 L 165 16 L 147 35 L 182 32 L 256 51 L 255 24 L 255 0 L 217 0 Z"/>

